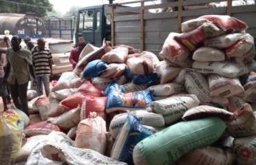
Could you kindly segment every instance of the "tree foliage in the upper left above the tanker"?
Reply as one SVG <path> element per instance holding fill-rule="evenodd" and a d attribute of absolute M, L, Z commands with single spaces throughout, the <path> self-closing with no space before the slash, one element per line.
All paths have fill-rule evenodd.
<path fill-rule="evenodd" d="M 0 12 L 20 13 L 34 12 L 37 17 L 47 16 L 53 5 L 49 0 L 0 0 Z"/>

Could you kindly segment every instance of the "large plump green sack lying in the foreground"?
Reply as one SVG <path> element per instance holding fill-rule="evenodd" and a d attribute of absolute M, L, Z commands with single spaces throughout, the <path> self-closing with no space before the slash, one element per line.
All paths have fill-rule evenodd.
<path fill-rule="evenodd" d="M 195 148 L 213 144 L 225 129 L 216 117 L 178 122 L 136 144 L 134 164 L 173 164 Z"/>

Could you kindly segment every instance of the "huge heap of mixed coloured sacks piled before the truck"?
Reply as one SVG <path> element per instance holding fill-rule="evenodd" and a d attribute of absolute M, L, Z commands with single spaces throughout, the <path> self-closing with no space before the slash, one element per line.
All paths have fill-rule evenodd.
<path fill-rule="evenodd" d="M 247 28 L 229 16 L 186 21 L 164 42 L 163 61 L 127 45 L 88 44 L 48 98 L 30 101 L 42 122 L 23 130 L 16 162 L 256 164 Z"/>

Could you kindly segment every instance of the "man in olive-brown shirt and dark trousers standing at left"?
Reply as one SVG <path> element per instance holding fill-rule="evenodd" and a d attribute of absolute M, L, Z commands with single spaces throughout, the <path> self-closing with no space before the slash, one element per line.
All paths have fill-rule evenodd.
<path fill-rule="evenodd" d="M 21 109 L 28 116 L 28 82 L 30 75 L 35 78 L 32 66 L 32 56 L 29 50 L 21 47 L 21 37 L 12 36 L 12 47 L 8 48 L 6 74 L 4 75 L 4 83 L 8 83 L 10 94 L 15 107 Z"/>

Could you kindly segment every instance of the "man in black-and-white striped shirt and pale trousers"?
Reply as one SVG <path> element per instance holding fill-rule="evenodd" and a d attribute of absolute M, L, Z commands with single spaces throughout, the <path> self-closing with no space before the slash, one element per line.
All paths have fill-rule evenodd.
<path fill-rule="evenodd" d="M 43 86 L 46 96 L 50 93 L 50 75 L 52 74 L 52 53 L 45 47 L 45 40 L 37 40 L 37 46 L 32 49 L 34 72 L 36 74 L 36 91 L 43 95 Z"/>

